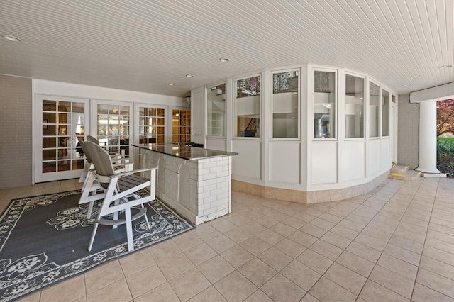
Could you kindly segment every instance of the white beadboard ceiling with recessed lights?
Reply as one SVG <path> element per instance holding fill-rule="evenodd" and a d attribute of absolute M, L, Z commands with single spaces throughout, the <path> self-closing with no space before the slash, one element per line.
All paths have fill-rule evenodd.
<path fill-rule="evenodd" d="M 403 94 L 454 81 L 453 24 L 454 0 L 0 0 L 22 40 L 0 39 L 0 74 L 187 96 L 312 63 Z"/>

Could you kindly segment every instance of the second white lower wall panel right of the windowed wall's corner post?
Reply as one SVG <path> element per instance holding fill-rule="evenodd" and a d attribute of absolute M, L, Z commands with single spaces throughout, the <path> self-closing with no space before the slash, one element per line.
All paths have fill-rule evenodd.
<path fill-rule="evenodd" d="M 365 141 L 347 141 L 343 147 L 343 181 L 365 177 Z"/>

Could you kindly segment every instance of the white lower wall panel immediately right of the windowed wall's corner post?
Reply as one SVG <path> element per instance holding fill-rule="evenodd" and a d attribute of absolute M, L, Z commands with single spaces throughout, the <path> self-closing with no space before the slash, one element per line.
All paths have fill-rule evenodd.
<path fill-rule="evenodd" d="M 337 182 L 337 142 L 312 142 L 312 184 Z"/>

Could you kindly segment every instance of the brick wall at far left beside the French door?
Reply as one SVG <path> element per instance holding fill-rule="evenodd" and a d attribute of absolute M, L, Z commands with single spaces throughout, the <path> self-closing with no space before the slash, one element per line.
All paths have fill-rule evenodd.
<path fill-rule="evenodd" d="M 0 75 L 0 189 L 32 183 L 31 79 Z"/>

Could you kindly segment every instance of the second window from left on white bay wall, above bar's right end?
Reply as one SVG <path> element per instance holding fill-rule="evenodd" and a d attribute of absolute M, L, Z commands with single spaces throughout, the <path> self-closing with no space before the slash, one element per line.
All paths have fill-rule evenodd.
<path fill-rule="evenodd" d="M 234 136 L 260 137 L 260 76 L 235 81 Z"/>

